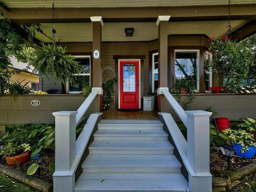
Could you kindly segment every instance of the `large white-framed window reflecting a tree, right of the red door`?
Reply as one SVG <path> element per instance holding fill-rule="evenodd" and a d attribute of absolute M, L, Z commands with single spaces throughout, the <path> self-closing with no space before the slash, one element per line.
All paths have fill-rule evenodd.
<path fill-rule="evenodd" d="M 175 50 L 175 78 L 193 79 L 196 90 L 199 90 L 198 70 L 199 50 Z"/>

